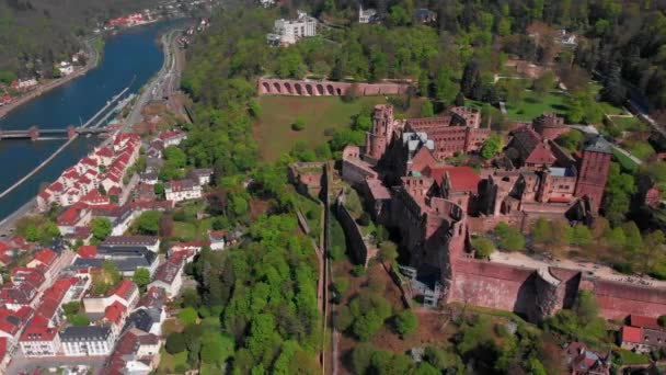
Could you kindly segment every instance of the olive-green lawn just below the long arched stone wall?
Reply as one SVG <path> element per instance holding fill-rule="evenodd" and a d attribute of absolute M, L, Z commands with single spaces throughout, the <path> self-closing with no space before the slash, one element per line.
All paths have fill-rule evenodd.
<path fill-rule="evenodd" d="M 330 138 L 324 135 L 324 129 L 347 127 L 364 109 L 386 102 L 384 96 L 361 96 L 352 103 L 345 103 L 338 96 L 262 96 L 259 99 L 262 115 L 254 126 L 261 157 L 275 160 L 288 152 L 297 140 L 306 140 L 317 147 Z M 417 116 L 421 103 L 421 100 L 413 100 L 405 115 Z M 300 132 L 291 130 L 297 118 L 306 123 Z"/>

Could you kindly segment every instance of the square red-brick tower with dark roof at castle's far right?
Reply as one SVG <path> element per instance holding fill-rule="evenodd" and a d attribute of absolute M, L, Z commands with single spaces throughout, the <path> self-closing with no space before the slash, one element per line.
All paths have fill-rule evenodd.
<path fill-rule="evenodd" d="M 595 209 L 599 209 L 601 205 L 611 157 L 612 148 L 601 136 L 592 139 L 583 149 L 583 159 L 574 195 L 577 197 L 587 195 Z"/>

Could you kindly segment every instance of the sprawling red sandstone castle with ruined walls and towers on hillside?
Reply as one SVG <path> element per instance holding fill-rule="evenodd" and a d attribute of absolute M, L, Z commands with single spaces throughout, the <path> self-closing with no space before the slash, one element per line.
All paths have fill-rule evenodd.
<path fill-rule="evenodd" d="M 438 117 L 395 120 L 378 105 L 365 147 L 343 150 L 342 177 L 364 195 L 374 218 L 400 231 L 410 266 L 436 280 L 443 303 L 516 311 L 530 320 L 574 305 L 578 291 L 596 294 L 609 319 L 666 314 L 666 283 L 644 286 L 594 271 L 523 254 L 474 259 L 471 235 L 500 221 L 529 230 L 539 217 L 578 225 L 596 215 L 610 166 L 599 136 L 574 157 L 554 143 L 569 128 L 544 114 L 513 132 L 495 167 L 480 172 L 445 158 L 475 152 L 491 130 L 475 110 L 453 107 Z"/>

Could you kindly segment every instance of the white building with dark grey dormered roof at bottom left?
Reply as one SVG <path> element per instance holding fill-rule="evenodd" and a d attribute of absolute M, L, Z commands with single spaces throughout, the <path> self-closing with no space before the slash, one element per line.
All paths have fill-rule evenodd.
<path fill-rule="evenodd" d="M 60 332 L 60 342 L 67 356 L 108 355 L 115 334 L 110 327 L 67 327 Z"/>

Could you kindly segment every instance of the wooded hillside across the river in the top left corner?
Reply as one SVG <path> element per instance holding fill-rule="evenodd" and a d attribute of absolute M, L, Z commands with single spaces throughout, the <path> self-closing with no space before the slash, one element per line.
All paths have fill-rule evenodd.
<path fill-rule="evenodd" d="M 81 49 L 81 37 L 108 18 L 156 0 L 0 1 L 0 81 L 50 71 Z"/>

